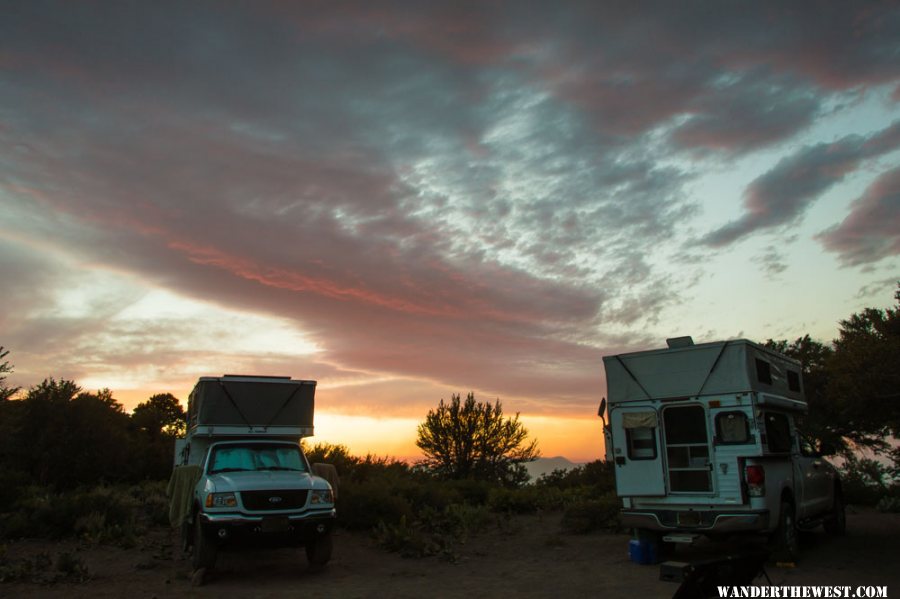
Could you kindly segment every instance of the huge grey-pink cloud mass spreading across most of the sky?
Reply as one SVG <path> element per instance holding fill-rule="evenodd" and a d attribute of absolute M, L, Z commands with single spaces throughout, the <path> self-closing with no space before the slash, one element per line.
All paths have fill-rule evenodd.
<path fill-rule="evenodd" d="M 826 100 L 892 84 L 897 31 L 896 10 L 852 4 L 23 3 L 0 20 L 0 230 L 44 270 L 16 270 L 33 284 L 5 322 L 79 375 L 290 363 L 283 341 L 245 361 L 166 352 L 179 331 L 235 341 L 116 322 L 134 289 L 29 311 L 65 267 L 99 269 L 280 319 L 321 350 L 297 369 L 326 382 L 593 403 L 610 336 L 647 342 L 702 268 L 658 258 L 698 214 L 691 161 L 771 147 Z M 798 217 L 891 135 L 785 159 L 712 244 Z"/>

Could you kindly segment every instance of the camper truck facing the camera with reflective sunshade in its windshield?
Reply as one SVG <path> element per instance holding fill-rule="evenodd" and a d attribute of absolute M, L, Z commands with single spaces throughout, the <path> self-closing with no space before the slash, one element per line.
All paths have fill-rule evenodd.
<path fill-rule="evenodd" d="M 313 434 L 315 381 L 202 377 L 176 441 L 169 516 L 196 571 L 222 547 L 305 546 L 313 567 L 331 557 L 334 493 L 300 447 Z"/>

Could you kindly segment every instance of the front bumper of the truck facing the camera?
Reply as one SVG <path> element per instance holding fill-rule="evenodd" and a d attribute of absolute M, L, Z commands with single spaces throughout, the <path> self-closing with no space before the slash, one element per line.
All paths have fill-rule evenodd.
<path fill-rule="evenodd" d="M 316 510 L 301 514 L 250 515 L 241 512 L 200 513 L 203 534 L 216 544 L 264 546 L 306 545 L 334 528 L 336 512 Z"/>

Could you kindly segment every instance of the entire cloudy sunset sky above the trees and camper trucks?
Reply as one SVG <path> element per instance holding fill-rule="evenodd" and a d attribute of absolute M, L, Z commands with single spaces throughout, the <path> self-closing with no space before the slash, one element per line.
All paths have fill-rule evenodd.
<path fill-rule="evenodd" d="M 828 341 L 900 280 L 893 2 L 0 0 L 9 382 L 452 394 L 600 457 L 602 356 Z"/>

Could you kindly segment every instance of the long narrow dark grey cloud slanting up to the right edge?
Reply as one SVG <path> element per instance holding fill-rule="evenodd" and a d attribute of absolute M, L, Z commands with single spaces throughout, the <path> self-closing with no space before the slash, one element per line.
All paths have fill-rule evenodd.
<path fill-rule="evenodd" d="M 744 191 L 745 214 L 703 239 L 723 247 L 760 230 L 790 225 L 822 194 L 857 170 L 863 160 L 900 146 L 900 122 L 864 138 L 849 135 L 806 146 L 783 158 Z"/>

